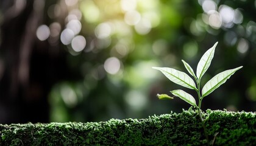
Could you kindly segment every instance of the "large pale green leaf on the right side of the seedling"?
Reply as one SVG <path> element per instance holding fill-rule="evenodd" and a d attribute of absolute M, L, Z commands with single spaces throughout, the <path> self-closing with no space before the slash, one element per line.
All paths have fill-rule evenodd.
<path fill-rule="evenodd" d="M 227 79 L 230 78 L 231 75 L 233 75 L 236 71 L 238 71 L 238 69 L 241 69 L 241 68 L 243 68 L 243 66 L 240 66 L 235 69 L 229 69 L 227 71 L 223 71 L 223 72 L 215 75 L 202 88 L 202 98 L 205 96 L 208 96 L 208 94 L 210 94 L 215 89 L 217 89 L 219 86 L 224 84 L 227 81 Z"/>

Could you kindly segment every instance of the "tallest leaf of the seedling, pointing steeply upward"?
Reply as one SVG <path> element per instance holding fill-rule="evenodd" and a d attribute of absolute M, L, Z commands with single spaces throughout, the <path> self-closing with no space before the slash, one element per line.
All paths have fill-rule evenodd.
<path fill-rule="evenodd" d="M 201 60 L 197 64 L 196 77 L 198 78 L 199 81 L 201 80 L 202 76 L 207 71 L 207 69 L 209 68 L 212 62 L 214 52 L 215 52 L 215 47 L 217 46 L 217 44 L 218 44 L 218 41 L 213 45 L 213 47 L 211 47 L 205 52 L 205 54 L 202 56 Z"/>

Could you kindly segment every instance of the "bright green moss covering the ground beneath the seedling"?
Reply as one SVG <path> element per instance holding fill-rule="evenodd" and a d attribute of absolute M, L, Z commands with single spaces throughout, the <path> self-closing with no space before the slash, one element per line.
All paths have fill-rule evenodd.
<path fill-rule="evenodd" d="M 255 113 L 207 110 L 215 145 L 256 145 Z M 207 145 L 197 111 L 88 123 L 0 125 L 0 145 Z"/>

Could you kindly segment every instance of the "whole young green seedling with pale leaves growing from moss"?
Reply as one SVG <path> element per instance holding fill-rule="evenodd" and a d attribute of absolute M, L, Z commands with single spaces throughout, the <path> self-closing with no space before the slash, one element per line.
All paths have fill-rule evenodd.
<path fill-rule="evenodd" d="M 197 92 L 198 101 L 199 101 L 198 104 L 196 104 L 196 100 L 194 99 L 193 96 L 191 96 L 190 94 L 188 94 L 187 92 L 185 92 L 181 89 L 176 89 L 176 90 L 171 91 L 171 93 L 174 96 L 177 96 L 182 100 L 185 100 L 185 102 L 190 103 L 190 105 L 194 106 L 198 110 L 199 117 L 202 122 L 205 137 L 207 138 L 208 144 L 209 144 L 208 135 L 205 131 L 204 119 L 202 119 L 202 114 L 201 114 L 202 99 L 204 99 L 205 96 L 208 96 L 208 94 L 215 91 L 215 89 L 217 89 L 219 86 L 224 84 L 227 81 L 227 79 L 230 78 L 231 75 L 233 75 L 236 71 L 238 71 L 238 69 L 243 68 L 243 66 L 240 66 L 238 68 L 229 69 L 227 71 L 223 71 L 223 72 L 215 75 L 215 77 L 213 77 L 207 83 L 205 83 L 205 85 L 201 91 L 201 86 L 200 86 L 201 78 L 205 74 L 205 72 L 207 71 L 207 69 L 209 68 L 209 66 L 212 62 L 213 55 L 215 53 L 215 47 L 217 44 L 218 44 L 218 42 L 216 42 L 213 45 L 213 47 L 208 49 L 207 52 L 205 52 L 205 54 L 202 56 L 201 60 L 197 64 L 196 74 L 194 74 L 194 71 L 191 68 L 191 66 L 188 63 L 186 63 L 184 60 L 182 60 L 185 68 L 190 73 L 190 75 L 192 75 L 194 77 L 196 82 L 194 82 L 194 80 L 185 72 L 177 71 L 176 69 L 173 69 L 173 68 L 153 67 L 153 69 L 157 69 L 158 71 L 161 71 L 172 82 L 174 82 L 178 85 L 184 86 L 186 88 L 189 88 L 189 89 L 194 89 Z M 159 99 L 172 99 L 172 97 L 169 97 L 166 94 L 160 94 L 160 95 L 157 94 L 157 97 Z"/>

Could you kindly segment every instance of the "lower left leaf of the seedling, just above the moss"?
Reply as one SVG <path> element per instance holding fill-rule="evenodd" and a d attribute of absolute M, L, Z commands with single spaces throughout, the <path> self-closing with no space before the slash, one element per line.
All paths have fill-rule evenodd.
<path fill-rule="evenodd" d="M 187 92 L 181 89 L 177 89 L 177 90 L 171 91 L 171 93 L 174 96 L 180 97 L 180 99 L 184 100 L 185 102 L 190 103 L 190 105 L 196 106 L 196 100 L 194 99 L 193 96 L 191 96 Z"/>

